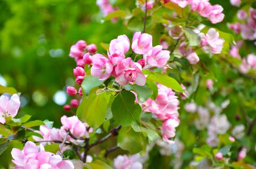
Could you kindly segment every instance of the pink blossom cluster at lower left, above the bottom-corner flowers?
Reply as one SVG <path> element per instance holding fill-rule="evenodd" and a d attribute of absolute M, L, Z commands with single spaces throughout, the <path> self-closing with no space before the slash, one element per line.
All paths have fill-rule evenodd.
<path fill-rule="evenodd" d="M 70 133 L 70 135 L 67 135 L 67 141 L 71 141 L 74 144 L 83 144 L 83 140 L 89 137 L 89 132 L 92 132 L 92 128 L 86 122 L 79 121 L 75 115 L 72 117 L 63 115 L 61 123 L 62 127 L 60 129 L 40 126 L 40 130 L 36 132 L 41 134 L 43 138 L 33 136 L 33 139 L 36 141 L 44 140 L 46 141 L 45 143 L 50 144 L 54 141 L 62 141 Z"/>

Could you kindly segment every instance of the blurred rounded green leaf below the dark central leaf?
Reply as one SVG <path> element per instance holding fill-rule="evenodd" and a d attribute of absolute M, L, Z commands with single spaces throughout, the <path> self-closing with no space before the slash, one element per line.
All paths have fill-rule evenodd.
<path fill-rule="evenodd" d="M 146 149 L 146 140 L 142 133 L 135 132 L 132 127 L 122 127 L 118 134 L 117 146 L 135 154 Z"/>

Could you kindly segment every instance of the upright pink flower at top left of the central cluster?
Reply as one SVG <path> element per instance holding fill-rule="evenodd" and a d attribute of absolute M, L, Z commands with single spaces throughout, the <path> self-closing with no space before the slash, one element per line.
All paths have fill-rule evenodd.
<path fill-rule="evenodd" d="M 108 57 L 113 64 L 120 63 L 125 59 L 125 54 L 129 51 L 130 41 L 126 35 L 119 35 L 117 39 L 113 39 L 109 44 Z"/>

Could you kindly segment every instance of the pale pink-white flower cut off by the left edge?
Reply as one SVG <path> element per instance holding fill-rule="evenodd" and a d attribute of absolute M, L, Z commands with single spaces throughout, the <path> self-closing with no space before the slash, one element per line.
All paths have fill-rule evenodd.
<path fill-rule="evenodd" d="M 15 117 L 20 107 L 20 98 L 17 94 L 11 96 L 9 100 L 7 96 L 0 97 L 0 123 L 5 124 L 6 117 Z"/>

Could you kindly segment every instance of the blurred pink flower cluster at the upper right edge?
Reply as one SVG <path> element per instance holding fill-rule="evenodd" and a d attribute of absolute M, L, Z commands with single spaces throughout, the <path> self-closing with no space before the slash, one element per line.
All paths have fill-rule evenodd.
<path fill-rule="evenodd" d="M 232 23 L 229 28 L 236 34 L 241 33 L 243 39 L 255 40 L 256 39 L 256 9 L 250 7 L 249 15 L 244 10 L 237 12 L 237 18 L 240 22 Z"/>

